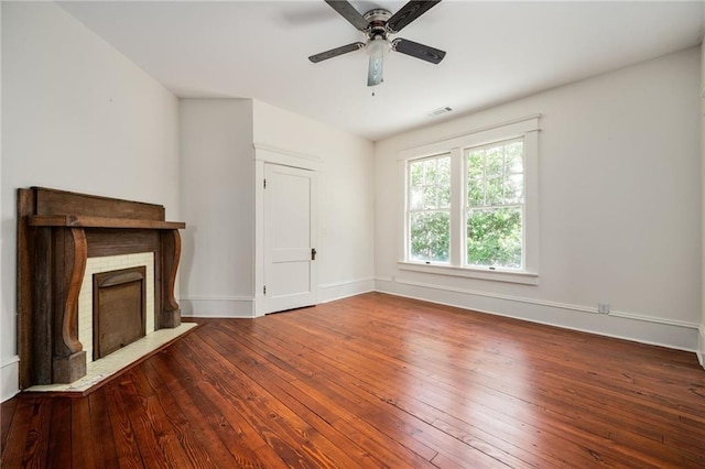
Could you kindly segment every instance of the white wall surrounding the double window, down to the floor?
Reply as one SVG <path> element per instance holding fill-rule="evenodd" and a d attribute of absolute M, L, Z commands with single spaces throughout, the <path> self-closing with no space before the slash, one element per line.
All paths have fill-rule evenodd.
<path fill-rule="evenodd" d="M 378 142 L 378 290 L 695 350 L 698 86 L 696 47 Z M 542 114 L 539 285 L 400 271 L 398 152 L 533 113 Z M 610 316 L 596 314 L 598 303 Z"/>

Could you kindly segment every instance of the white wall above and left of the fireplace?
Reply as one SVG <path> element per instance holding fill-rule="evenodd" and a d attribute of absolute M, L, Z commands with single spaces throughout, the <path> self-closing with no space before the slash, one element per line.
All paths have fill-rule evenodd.
<path fill-rule="evenodd" d="M 18 389 L 15 192 L 166 207 L 178 220 L 177 100 L 54 3 L 2 2 L 1 399 Z"/>

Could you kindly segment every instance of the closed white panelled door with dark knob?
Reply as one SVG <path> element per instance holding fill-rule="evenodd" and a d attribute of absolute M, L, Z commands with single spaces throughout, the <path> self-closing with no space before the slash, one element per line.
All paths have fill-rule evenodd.
<path fill-rule="evenodd" d="M 264 165 L 265 313 L 316 304 L 316 173 Z"/>

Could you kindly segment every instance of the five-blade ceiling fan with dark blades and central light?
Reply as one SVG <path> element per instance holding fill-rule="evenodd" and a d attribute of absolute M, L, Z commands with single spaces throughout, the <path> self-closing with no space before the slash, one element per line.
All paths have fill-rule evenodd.
<path fill-rule="evenodd" d="M 314 64 L 347 54 L 348 52 L 365 48 L 369 55 L 369 68 L 367 73 L 367 86 L 376 86 L 383 81 L 382 65 L 384 54 L 389 51 L 401 52 L 422 61 L 438 64 L 445 57 L 445 52 L 419 44 L 413 41 L 397 37 L 390 40 L 390 34 L 397 34 L 416 20 L 423 13 L 433 8 L 441 0 L 417 1 L 412 0 L 404 4 L 401 10 L 392 14 L 384 9 L 373 9 L 365 14 L 360 14 L 347 0 L 325 0 L 335 11 L 345 18 L 350 24 L 365 33 L 366 42 L 354 42 L 340 47 L 332 48 L 308 57 Z"/>

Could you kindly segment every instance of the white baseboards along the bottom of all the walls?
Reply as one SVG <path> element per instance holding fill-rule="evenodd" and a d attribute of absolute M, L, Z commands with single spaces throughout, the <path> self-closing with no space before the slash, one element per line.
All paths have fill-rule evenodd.
<path fill-rule="evenodd" d="M 319 285 L 318 288 L 321 303 L 378 291 L 480 313 L 695 352 L 701 364 L 705 368 L 705 326 L 697 324 L 619 310 L 601 315 L 588 306 L 400 281 L 391 277 L 329 283 Z M 247 296 L 191 296 L 181 298 L 180 303 L 184 317 L 254 317 L 254 298 Z M 9 363 L 9 366 L 11 364 Z M 14 369 L 17 368 L 17 363 L 14 363 Z M 17 373 L 14 382 L 17 383 Z M 6 380 L 2 381 L 2 385 L 4 392 Z"/>

